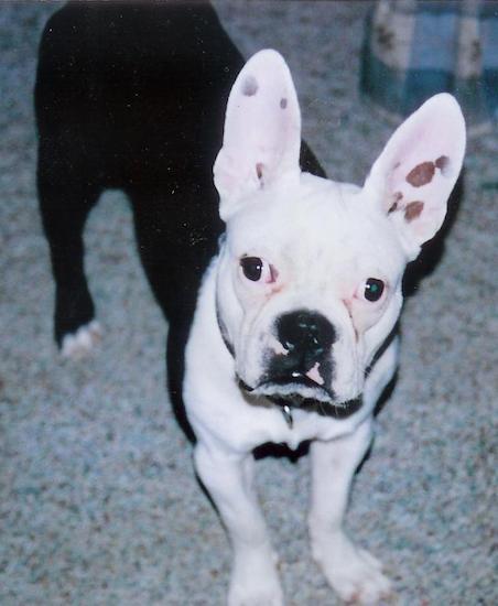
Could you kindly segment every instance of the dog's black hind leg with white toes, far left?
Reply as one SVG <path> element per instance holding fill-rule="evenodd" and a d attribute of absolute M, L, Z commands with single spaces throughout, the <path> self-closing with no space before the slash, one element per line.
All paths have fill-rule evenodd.
<path fill-rule="evenodd" d="M 84 269 L 83 229 L 100 187 L 53 147 L 40 145 L 37 186 L 55 279 L 55 340 L 65 357 L 80 357 L 100 337 Z"/>

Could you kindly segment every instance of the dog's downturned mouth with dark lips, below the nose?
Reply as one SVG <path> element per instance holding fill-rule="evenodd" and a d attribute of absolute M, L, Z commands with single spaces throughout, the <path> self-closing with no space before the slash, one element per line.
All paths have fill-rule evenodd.
<path fill-rule="evenodd" d="M 362 404 L 361 394 L 339 401 L 333 391 L 300 374 L 291 379 L 272 377 L 256 387 L 250 387 L 239 379 L 239 387 L 250 397 L 264 397 L 281 408 L 284 416 L 290 414 L 291 409 L 300 409 L 316 412 L 322 416 L 346 419 L 357 412 Z"/>

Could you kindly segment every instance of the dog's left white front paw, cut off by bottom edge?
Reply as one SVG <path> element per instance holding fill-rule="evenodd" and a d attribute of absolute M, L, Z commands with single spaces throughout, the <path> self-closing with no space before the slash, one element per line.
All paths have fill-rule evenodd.
<path fill-rule="evenodd" d="M 283 594 L 274 562 L 260 553 L 236 556 L 228 606 L 283 606 Z"/>

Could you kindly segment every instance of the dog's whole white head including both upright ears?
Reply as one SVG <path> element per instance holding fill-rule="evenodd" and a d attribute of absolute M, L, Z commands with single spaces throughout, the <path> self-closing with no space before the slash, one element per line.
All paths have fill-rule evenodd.
<path fill-rule="evenodd" d="M 451 96 L 433 97 L 361 188 L 302 173 L 300 144 L 289 69 L 262 51 L 234 85 L 214 169 L 227 224 L 218 320 L 248 391 L 340 405 L 361 394 L 399 316 L 405 264 L 443 223 L 465 125 Z"/>

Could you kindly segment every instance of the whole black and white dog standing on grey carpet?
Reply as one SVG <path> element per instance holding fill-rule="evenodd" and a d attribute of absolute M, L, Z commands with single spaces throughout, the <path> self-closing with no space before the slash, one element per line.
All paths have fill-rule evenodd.
<path fill-rule="evenodd" d="M 35 107 L 55 338 L 77 356 L 98 337 L 82 231 L 121 188 L 170 324 L 172 399 L 232 545 L 228 604 L 283 604 L 252 452 L 304 441 L 313 556 L 340 598 L 381 600 L 390 582 L 343 518 L 397 369 L 404 269 L 461 172 L 456 100 L 410 116 L 361 187 L 335 183 L 301 141 L 282 56 L 243 64 L 210 6 L 69 2 L 42 37 Z"/>

